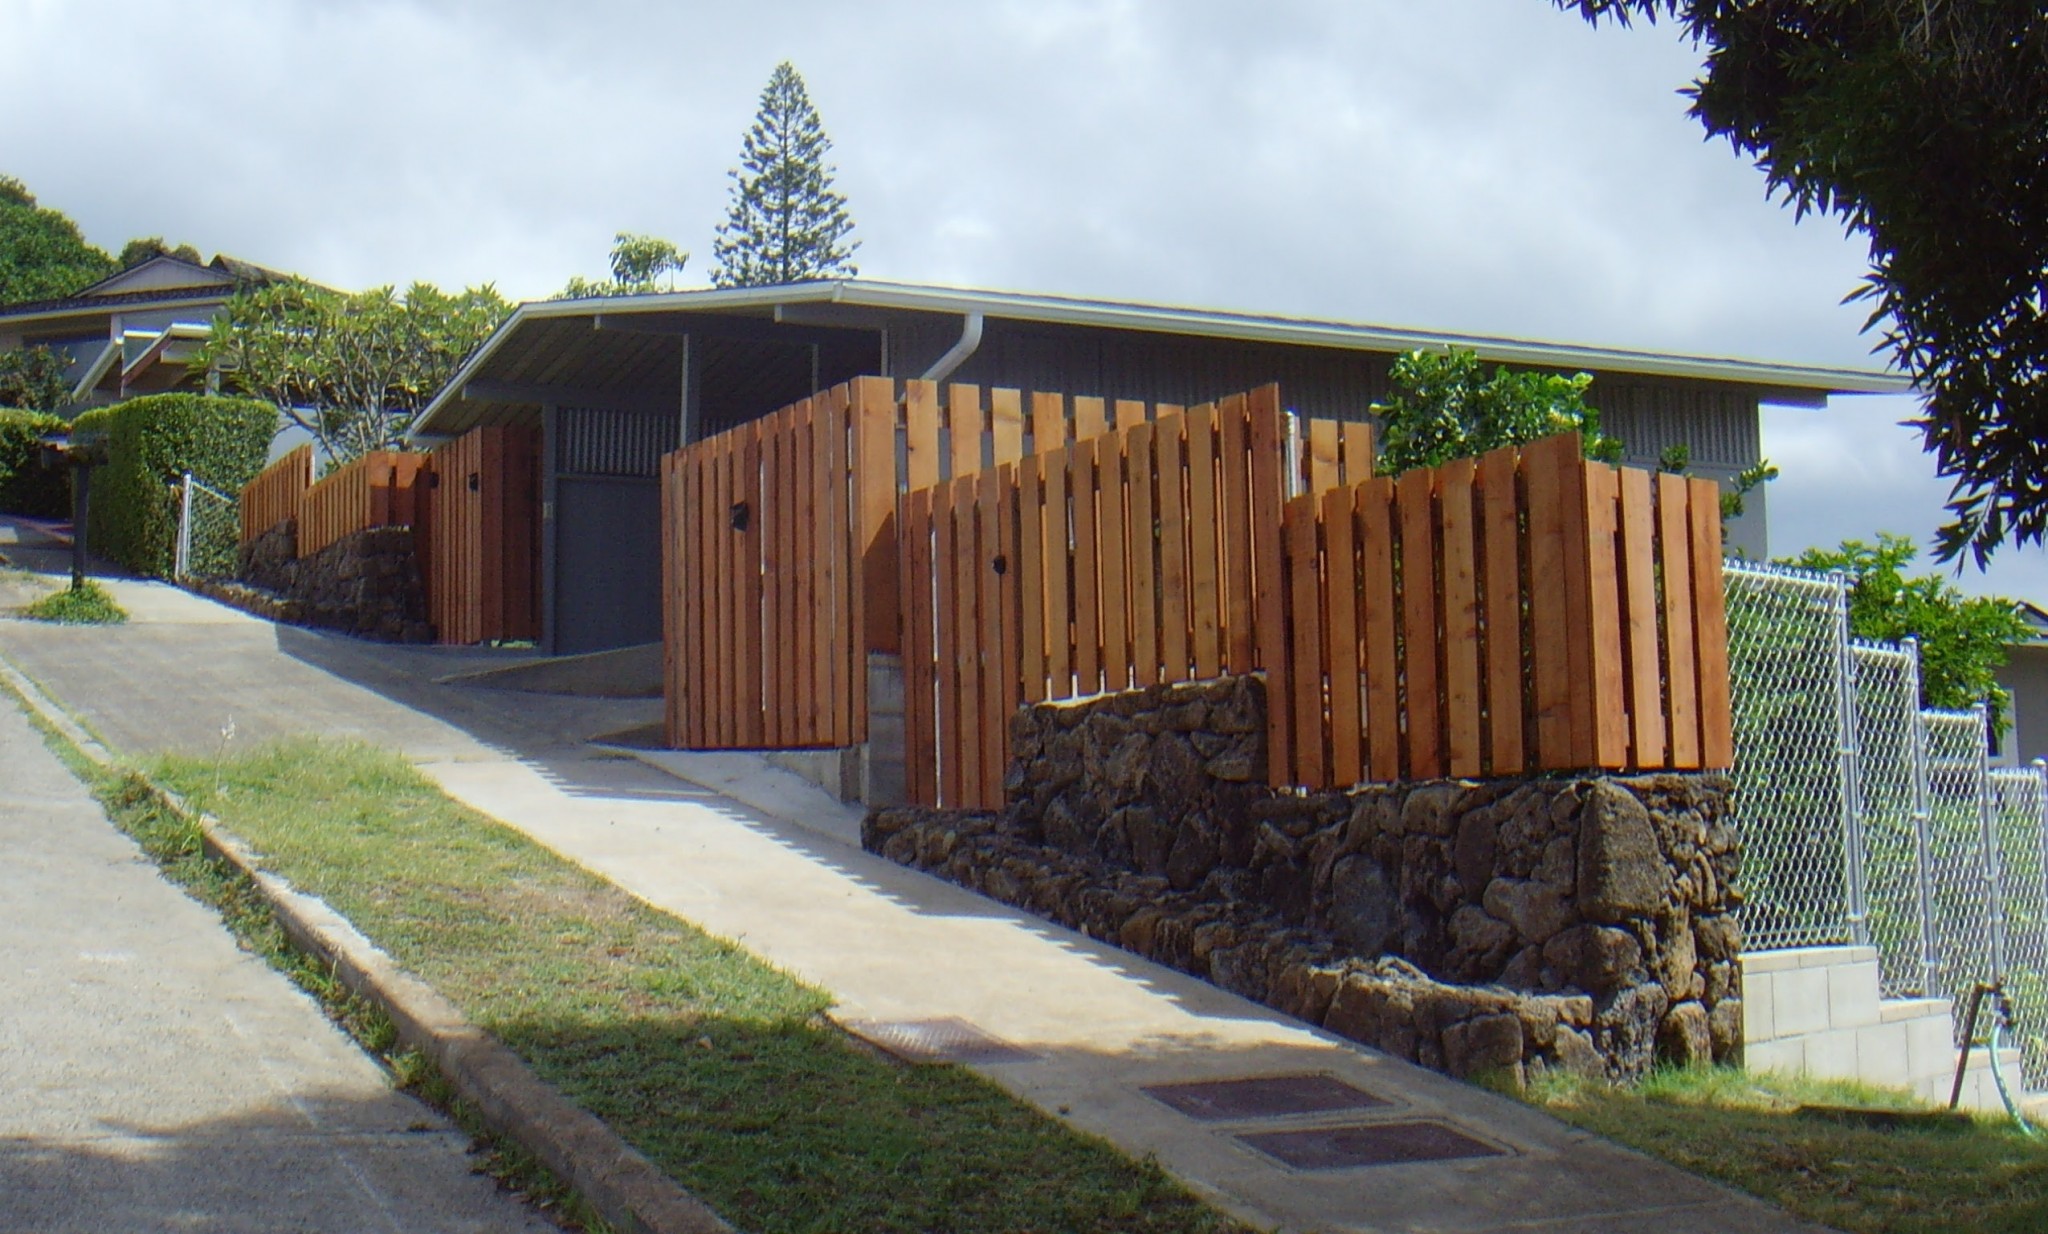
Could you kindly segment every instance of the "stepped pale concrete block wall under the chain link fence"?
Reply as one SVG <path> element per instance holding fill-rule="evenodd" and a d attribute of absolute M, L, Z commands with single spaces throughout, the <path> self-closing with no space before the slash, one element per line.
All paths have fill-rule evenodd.
<path fill-rule="evenodd" d="M 2003 1052 L 2019 1085 L 2019 1052 Z M 1743 956 L 1743 1060 L 1749 1070 L 1800 1072 L 1911 1089 L 1946 1105 L 1956 1081 L 1948 999 L 1884 999 L 1876 947 L 1788 947 Z M 1962 1105 L 1999 1109 L 1987 1050 L 1972 1052 Z"/>

